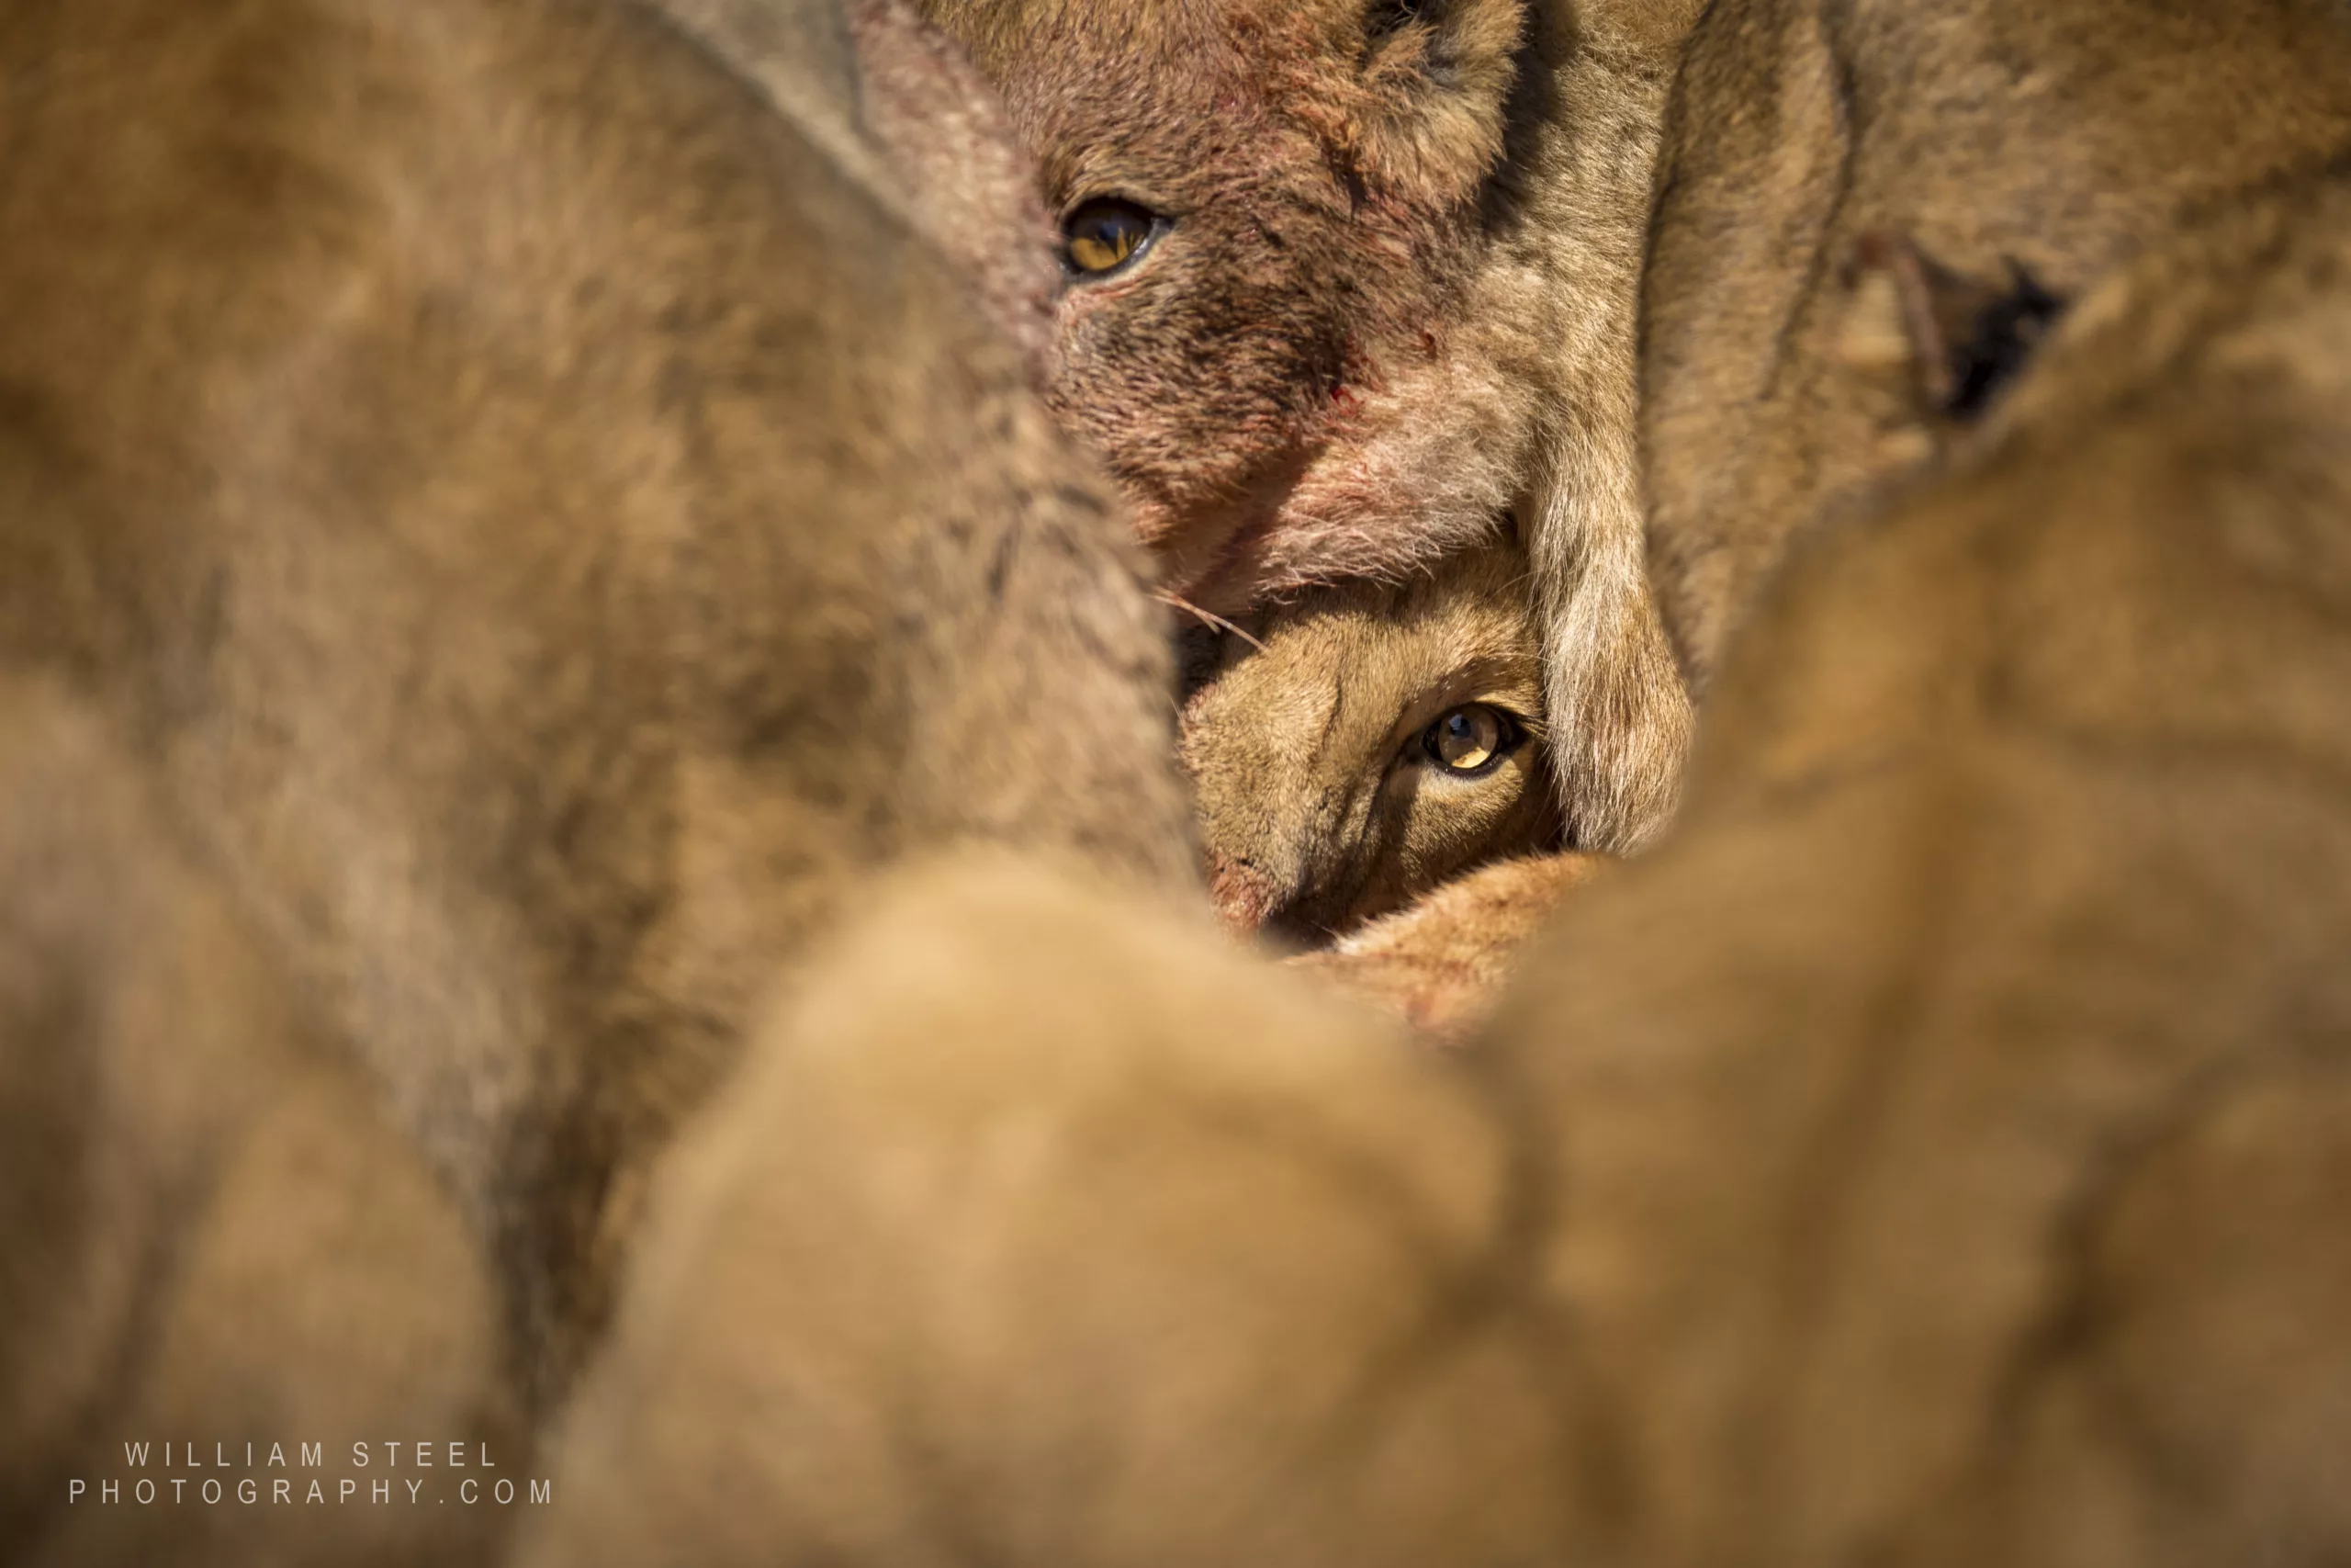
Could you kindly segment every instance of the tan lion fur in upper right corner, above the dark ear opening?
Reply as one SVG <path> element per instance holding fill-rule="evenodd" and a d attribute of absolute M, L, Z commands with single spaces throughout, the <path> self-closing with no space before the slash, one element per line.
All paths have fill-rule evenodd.
<path fill-rule="evenodd" d="M 1716 5 L 1643 284 L 1653 574 L 1693 682 L 1813 517 L 1930 449 L 1843 364 L 1857 247 L 1902 235 L 1956 275 L 2015 261 L 2076 294 L 2184 209 L 2344 141 L 2337 0 Z"/>

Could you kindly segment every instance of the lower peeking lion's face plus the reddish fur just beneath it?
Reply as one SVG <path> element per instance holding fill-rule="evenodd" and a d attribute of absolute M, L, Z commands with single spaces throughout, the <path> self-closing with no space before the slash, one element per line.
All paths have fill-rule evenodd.
<path fill-rule="evenodd" d="M 1180 755 L 1225 924 L 1441 1041 L 1474 1034 L 1526 938 L 1606 865 L 1559 849 L 1514 538 L 1192 628 L 1185 679 Z"/>

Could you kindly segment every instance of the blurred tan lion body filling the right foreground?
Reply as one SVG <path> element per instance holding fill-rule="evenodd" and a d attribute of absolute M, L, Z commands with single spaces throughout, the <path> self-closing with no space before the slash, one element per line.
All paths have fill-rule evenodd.
<path fill-rule="evenodd" d="M 2337 179 L 2085 296 L 1531 959 L 1643 1561 L 2351 1542 L 2346 242 Z"/>

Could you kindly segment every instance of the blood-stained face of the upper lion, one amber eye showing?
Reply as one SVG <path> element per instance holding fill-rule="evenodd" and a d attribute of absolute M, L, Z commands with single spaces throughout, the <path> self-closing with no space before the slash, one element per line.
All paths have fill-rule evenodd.
<path fill-rule="evenodd" d="M 1063 266 L 1046 395 L 1166 581 L 1237 607 L 1270 536 L 1319 529 L 1340 576 L 1342 541 L 1406 529 L 1444 468 L 1380 451 L 1460 315 L 1519 0 L 924 9 L 1037 162 Z"/>

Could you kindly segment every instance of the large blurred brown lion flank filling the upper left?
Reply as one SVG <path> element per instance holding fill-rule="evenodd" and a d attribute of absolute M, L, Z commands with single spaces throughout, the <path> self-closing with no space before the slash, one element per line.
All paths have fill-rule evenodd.
<path fill-rule="evenodd" d="M 155 769 L 543 1389 L 849 872 L 1187 877 L 1117 512 L 933 247 L 661 19 L 28 0 L 0 68 L 0 658 Z"/>

